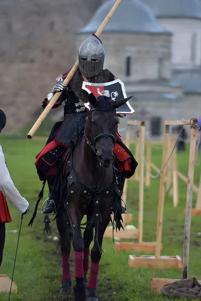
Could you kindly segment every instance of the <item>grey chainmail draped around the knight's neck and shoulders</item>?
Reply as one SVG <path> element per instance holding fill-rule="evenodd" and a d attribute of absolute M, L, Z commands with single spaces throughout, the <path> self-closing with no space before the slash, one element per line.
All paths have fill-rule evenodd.
<path fill-rule="evenodd" d="M 105 69 L 103 70 L 102 73 L 99 73 L 93 77 L 88 78 L 88 82 L 95 83 L 95 84 L 108 83 L 111 74 L 112 73 L 108 69 Z M 71 89 L 75 93 L 75 96 L 77 96 L 78 99 L 83 101 L 84 103 L 87 103 L 88 93 L 81 88 L 82 83 L 83 83 L 83 78 L 81 76 L 80 71 L 77 70 L 73 75 L 72 79 L 70 80 L 69 84 Z"/>

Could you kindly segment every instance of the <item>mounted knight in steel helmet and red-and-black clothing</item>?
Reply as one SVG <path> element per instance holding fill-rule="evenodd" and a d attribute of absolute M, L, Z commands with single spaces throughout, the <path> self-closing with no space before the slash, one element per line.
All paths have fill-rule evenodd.
<path fill-rule="evenodd" d="M 48 94 L 47 98 L 43 101 L 42 107 L 45 108 L 47 106 L 56 92 L 62 91 L 62 94 L 53 108 L 57 108 L 64 103 L 64 118 L 68 115 L 75 114 L 75 121 L 77 121 L 80 114 L 87 113 L 84 103 L 88 102 L 88 93 L 82 89 L 84 77 L 86 77 L 90 83 L 106 83 L 116 79 L 108 69 L 103 69 L 104 59 L 104 46 L 93 34 L 82 43 L 79 49 L 79 69 L 75 72 L 69 84 L 67 86 L 63 84 L 63 80 L 66 78 L 68 71 L 56 78 L 56 85 L 54 86 L 52 93 Z M 62 155 L 65 152 L 65 146 L 63 146 L 62 143 L 58 143 L 58 140 L 56 139 L 61 127 L 62 121 L 55 123 L 46 146 L 36 157 L 37 161 L 35 164 L 39 178 L 42 181 L 47 180 L 49 187 L 49 199 L 47 199 L 49 204 L 42 210 L 45 214 L 55 212 L 60 202 L 60 190 L 57 189 L 56 193 L 53 192 L 53 186 L 55 189 L 55 179 L 61 164 Z M 71 135 L 70 131 L 68 131 L 68 135 Z M 117 166 L 119 166 L 119 171 L 122 173 L 121 184 L 123 187 L 125 179 L 130 178 L 134 174 L 137 162 L 129 149 L 123 144 L 119 135 L 117 142 L 120 143 L 118 145 L 119 157 L 116 156 L 117 162 L 119 163 Z M 116 153 L 117 152 L 114 151 L 115 155 L 117 155 Z M 123 212 L 125 212 L 124 207 L 122 209 L 122 213 Z"/>

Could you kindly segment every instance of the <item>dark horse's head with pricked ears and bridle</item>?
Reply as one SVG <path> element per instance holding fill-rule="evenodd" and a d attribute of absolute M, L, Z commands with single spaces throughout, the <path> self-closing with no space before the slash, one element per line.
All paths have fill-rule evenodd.
<path fill-rule="evenodd" d="M 98 156 L 100 166 L 109 168 L 115 160 L 115 146 L 118 116 L 116 109 L 125 104 L 131 97 L 113 101 L 107 96 L 89 94 L 91 110 L 85 125 L 85 137 L 89 146 Z"/>

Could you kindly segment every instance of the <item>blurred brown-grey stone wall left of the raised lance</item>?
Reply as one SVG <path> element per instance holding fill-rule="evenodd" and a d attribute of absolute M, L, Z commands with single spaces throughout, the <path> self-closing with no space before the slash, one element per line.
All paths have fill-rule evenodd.
<path fill-rule="evenodd" d="M 0 1 L 0 108 L 7 132 L 36 120 L 55 78 L 75 62 L 77 30 L 102 2 Z"/>

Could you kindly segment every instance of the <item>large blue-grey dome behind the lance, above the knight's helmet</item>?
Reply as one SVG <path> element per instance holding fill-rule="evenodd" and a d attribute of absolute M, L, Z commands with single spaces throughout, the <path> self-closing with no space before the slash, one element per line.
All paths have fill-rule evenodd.
<path fill-rule="evenodd" d="M 110 0 L 100 6 L 78 34 L 95 33 L 115 2 L 116 0 Z M 140 0 L 123 0 L 108 22 L 104 30 L 104 33 L 107 32 L 170 34 L 158 23 L 151 9 Z"/>

